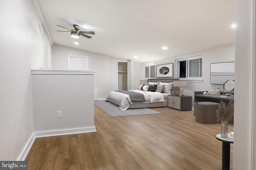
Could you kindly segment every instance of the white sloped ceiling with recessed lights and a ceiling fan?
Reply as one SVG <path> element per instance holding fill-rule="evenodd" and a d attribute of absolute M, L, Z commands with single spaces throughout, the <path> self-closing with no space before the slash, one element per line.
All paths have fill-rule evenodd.
<path fill-rule="evenodd" d="M 53 43 L 137 62 L 234 43 L 234 0 L 38 0 Z M 70 37 L 73 24 L 94 31 Z M 78 42 L 79 45 L 75 45 Z M 162 47 L 168 47 L 163 50 Z M 138 56 L 134 59 L 134 56 Z"/>

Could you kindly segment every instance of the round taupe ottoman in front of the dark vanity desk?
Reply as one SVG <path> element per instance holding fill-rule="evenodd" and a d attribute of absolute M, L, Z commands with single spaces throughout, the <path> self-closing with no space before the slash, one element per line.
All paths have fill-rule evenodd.
<path fill-rule="evenodd" d="M 194 115 L 198 123 L 218 123 L 215 111 L 218 109 L 219 103 L 215 102 L 195 102 Z"/>

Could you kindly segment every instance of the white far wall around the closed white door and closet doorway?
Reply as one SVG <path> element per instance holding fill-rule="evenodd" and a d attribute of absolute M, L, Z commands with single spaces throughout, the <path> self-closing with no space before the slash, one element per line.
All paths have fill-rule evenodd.
<path fill-rule="evenodd" d="M 52 69 L 67 70 L 68 55 L 89 57 L 89 70 L 95 70 L 94 87 L 98 88 L 99 99 L 106 98 L 110 91 L 116 90 L 116 61 L 123 59 L 54 44 L 52 47 Z M 140 70 L 139 74 L 141 74 L 141 63 L 133 62 L 133 65 L 134 70 Z M 140 80 L 137 74 L 133 78 L 134 82 L 139 82 Z M 137 84 L 134 88 L 138 88 Z"/>

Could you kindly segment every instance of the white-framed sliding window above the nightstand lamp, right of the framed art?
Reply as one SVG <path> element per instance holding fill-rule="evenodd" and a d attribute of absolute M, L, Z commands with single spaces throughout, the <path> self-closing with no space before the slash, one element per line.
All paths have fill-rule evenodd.
<path fill-rule="evenodd" d="M 176 64 L 177 78 L 202 77 L 202 58 L 179 59 Z"/>

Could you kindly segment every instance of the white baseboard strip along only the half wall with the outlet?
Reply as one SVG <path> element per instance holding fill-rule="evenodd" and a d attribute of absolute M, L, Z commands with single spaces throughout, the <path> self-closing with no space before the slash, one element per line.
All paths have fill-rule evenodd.
<path fill-rule="evenodd" d="M 62 129 L 56 131 L 44 131 L 44 132 L 35 132 L 35 137 L 48 137 L 48 136 L 58 136 L 58 135 L 70 135 L 77 133 L 88 133 L 88 132 L 96 132 L 96 127 L 83 127 L 77 129 Z"/>

